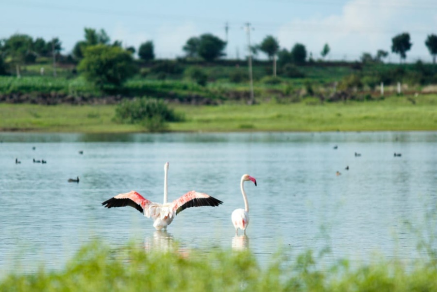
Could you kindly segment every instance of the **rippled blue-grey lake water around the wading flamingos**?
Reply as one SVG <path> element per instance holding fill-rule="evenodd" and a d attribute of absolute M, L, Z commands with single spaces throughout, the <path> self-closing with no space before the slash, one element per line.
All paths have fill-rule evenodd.
<path fill-rule="evenodd" d="M 40 263 L 62 268 L 95 239 L 146 250 L 175 242 L 202 251 L 249 248 L 262 265 L 282 247 L 291 255 L 329 247 L 328 261 L 374 252 L 408 260 L 418 256 L 418 237 L 405 222 L 436 231 L 425 217 L 437 206 L 437 132 L 1 133 L 0 141 L 1 274 Z M 169 200 L 197 190 L 223 205 L 186 209 L 168 232 L 134 208 L 101 206 L 130 190 L 161 202 L 166 161 Z M 258 183 L 245 183 L 247 237 L 235 236 L 231 222 L 232 211 L 244 208 L 244 173 Z M 67 182 L 77 176 L 79 184 Z"/>

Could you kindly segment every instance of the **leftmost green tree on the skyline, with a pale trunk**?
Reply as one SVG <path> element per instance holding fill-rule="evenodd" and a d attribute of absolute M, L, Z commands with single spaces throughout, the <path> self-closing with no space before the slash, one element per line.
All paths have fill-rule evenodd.
<path fill-rule="evenodd" d="M 33 39 L 27 34 L 14 34 L 5 40 L 4 50 L 6 55 L 15 64 L 17 77 L 20 77 L 20 65 L 26 60 L 26 56 L 31 53 Z"/>

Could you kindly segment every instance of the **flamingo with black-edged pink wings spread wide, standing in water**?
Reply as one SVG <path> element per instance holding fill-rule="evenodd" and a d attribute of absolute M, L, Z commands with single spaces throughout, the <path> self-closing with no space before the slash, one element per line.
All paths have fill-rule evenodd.
<path fill-rule="evenodd" d="M 172 202 L 167 202 L 167 178 L 168 162 L 164 165 L 164 203 L 154 203 L 144 199 L 143 196 L 135 191 L 118 194 L 117 196 L 101 203 L 106 208 L 131 206 L 141 212 L 144 216 L 153 219 L 153 227 L 156 230 L 167 229 L 174 217 L 182 210 L 190 207 L 218 206 L 223 203 L 207 194 L 196 191 L 189 191 L 182 197 Z"/>

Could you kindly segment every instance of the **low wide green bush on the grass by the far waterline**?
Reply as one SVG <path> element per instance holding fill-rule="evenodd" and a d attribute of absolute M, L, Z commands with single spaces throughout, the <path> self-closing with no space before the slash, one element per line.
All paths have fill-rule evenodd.
<path fill-rule="evenodd" d="M 163 131 L 166 122 L 180 122 L 182 115 L 160 99 L 142 97 L 124 100 L 116 108 L 115 120 L 120 123 L 139 123 L 151 132 Z"/>

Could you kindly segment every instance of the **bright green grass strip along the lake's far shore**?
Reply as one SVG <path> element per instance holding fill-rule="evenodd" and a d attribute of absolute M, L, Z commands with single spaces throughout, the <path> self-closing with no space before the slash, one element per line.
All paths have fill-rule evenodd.
<path fill-rule="evenodd" d="M 413 104 L 414 102 L 414 104 Z M 185 121 L 169 131 L 402 131 L 437 130 L 437 96 L 391 96 L 385 100 L 319 104 L 261 103 L 254 106 L 173 105 Z M 115 106 L 0 104 L 3 131 L 122 133 L 145 131 L 113 121 Z"/>

